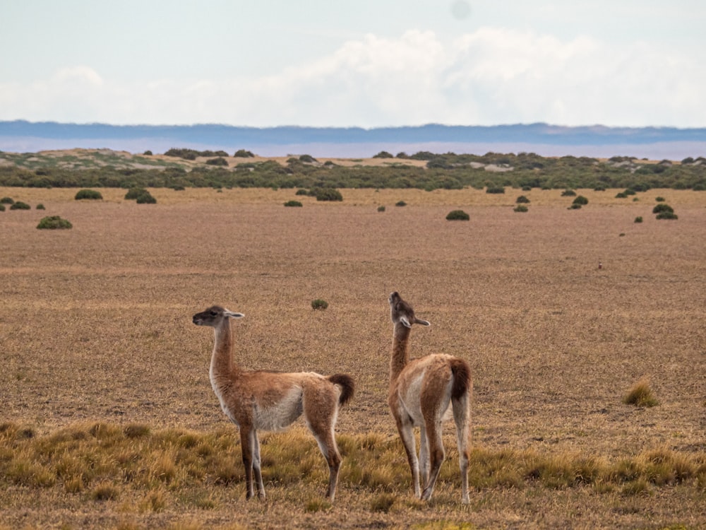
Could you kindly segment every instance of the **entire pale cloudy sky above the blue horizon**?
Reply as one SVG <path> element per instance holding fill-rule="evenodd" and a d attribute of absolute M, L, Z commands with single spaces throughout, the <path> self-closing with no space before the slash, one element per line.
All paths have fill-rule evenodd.
<path fill-rule="evenodd" d="M 702 0 L 0 8 L 0 120 L 706 126 Z"/>

